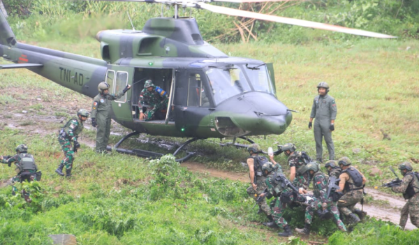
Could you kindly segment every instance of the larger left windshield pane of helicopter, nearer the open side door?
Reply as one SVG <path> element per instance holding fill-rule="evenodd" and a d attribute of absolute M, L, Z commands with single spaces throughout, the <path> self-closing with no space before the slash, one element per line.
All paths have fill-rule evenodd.
<path fill-rule="evenodd" d="M 239 66 L 210 67 L 205 73 L 210 81 L 212 96 L 214 96 L 216 104 L 251 90 L 244 77 L 243 70 Z"/>

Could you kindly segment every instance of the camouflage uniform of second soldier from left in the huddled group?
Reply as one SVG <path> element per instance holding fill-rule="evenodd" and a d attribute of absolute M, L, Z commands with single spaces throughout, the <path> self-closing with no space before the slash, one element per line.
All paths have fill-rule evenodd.
<path fill-rule="evenodd" d="M 276 164 L 276 165 L 279 165 L 279 164 Z M 275 181 L 275 176 L 277 175 L 277 173 L 282 174 L 282 171 L 278 169 L 277 167 L 275 168 L 276 169 L 274 170 L 274 172 L 271 172 L 270 175 L 267 176 L 265 180 L 265 184 L 267 187 L 267 191 L 272 196 L 275 197 L 274 200 L 272 200 L 271 202 L 272 218 L 274 219 L 275 223 L 279 226 L 279 228 L 284 228 L 284 226 L 287 225 L 288 223 L 286 222 L 285 218 L 282 217 L 282 215 L 284 214 L 285 205 L 281 203 L 280 195 L 283 190 L 281 188 L 281 183 L 278 183 L 277 181 Z"/>

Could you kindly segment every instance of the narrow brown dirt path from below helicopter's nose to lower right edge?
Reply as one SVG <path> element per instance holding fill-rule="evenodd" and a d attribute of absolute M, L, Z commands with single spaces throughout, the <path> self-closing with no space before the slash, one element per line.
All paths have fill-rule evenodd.
<path fill-rule="evenodd" d="M 182 166 L 188 168 L 191 172 L 200 172 L 200 173 L 207 173 L 212 177 L 218 177 L 221 179 L 231 179 L 231 180 L 239 180 L 243 182 L 249 182 L 249 176 L 247 173 L 236 173 L 236 172 L 227 172 L 216 170 L 213 168 L 207 168 L 205 165 L 196 162 L 185 162 L 181 164 Z M 365 190 L 368 195 L 372 195 L 374 200 L 384 200 L 390 203 L 390 207 L 376 207 L 373 205 L 364 205 L 364 211 L 368 213 L 369 216 L 373 216 L 375 218 L 381 219 L 383 221 L 390 221 L 395 223 L 396 225 L 399 224 L 400 220 L 400 209 L 406 203 L 402 197 L 395 197 L 389 195 L 387 193 L 381 193 L 373 188 L 367 188 Z M 358 204 L 356 207 L 361 209 L 361 205 Z M 406 230 L 413 230 L 416 226 L 411 223 L 411 221 L 407 221 Z"/>

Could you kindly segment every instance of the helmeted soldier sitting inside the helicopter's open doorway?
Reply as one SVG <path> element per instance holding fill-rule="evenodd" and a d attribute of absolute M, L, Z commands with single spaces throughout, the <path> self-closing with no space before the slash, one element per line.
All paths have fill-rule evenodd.
<path fill-rule="evenodd" d="M 168 96 L 166 91 L 159 86 L 155 86 L 152 80 L 145 81 L 144 89 L 142 89 L 138 100 L 138 107 L 142 108 L 147 105 L 146 114 L 140 110 L 140 120 L 152 121 L 163 120 L 166 114 L 161 110 L 168 108 Z"/>

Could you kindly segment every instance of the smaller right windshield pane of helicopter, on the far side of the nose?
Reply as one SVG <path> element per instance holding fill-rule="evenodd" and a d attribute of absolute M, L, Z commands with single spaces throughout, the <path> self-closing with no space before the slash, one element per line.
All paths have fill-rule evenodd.
<path fill-rule="evenodd" d="M 266 93 L 274 94 L 270 75 L 267 72 L 265 65 L 258 66 L 249 64 L 247 68 L 245 67 L 245 70 L 247 77 L 249 77 L 249 82 L 255 91 L 263 91 Z"/>

